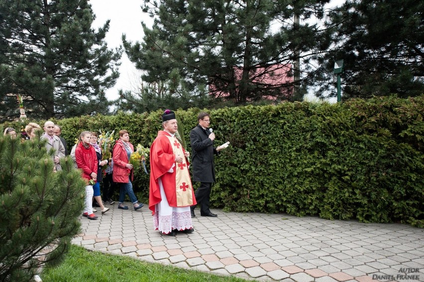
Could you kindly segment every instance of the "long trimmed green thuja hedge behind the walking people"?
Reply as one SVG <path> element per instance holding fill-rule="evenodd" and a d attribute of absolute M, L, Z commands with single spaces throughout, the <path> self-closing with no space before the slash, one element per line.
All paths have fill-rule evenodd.
<path fill-rule="evenodd" d="M 177 111 L 189 150 L 199 111 Z M 215 143 L 231 143 L 215 158 L 214 207 L 424 226 L 424 96 L 210 113 Z M 57 123 L 69 146 L 85 129 L 127 129 L 133 144 L 149 146 L 161 129 L 160 116 L 119 113 Z M 148 185 L 148 175 L 137 172 L 134 188 L 143 201 Z"/>

